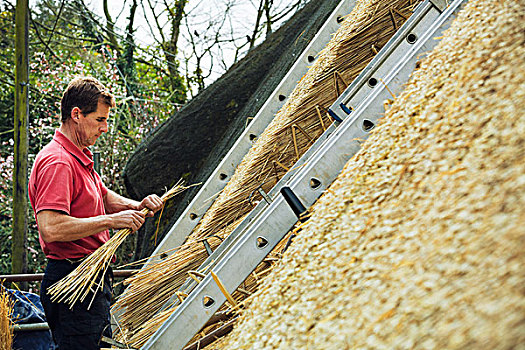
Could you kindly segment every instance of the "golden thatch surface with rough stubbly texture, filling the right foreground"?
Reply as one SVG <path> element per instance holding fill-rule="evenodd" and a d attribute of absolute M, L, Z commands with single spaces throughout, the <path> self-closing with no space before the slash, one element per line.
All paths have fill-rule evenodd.
<path fill-rule="evenodd" d="M 524 347 L 524 9 L 466 5 L 213 348 Z"/>

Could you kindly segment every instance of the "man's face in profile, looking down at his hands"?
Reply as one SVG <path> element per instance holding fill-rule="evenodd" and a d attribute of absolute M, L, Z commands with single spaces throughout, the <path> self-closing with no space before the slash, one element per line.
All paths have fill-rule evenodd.
<path fill-rule="evenodd" d="M 95 112 L 79 114 L 77 142 L 82 148 L 93 146 L 99 136 L 108 131 L 109 106 L 99 101 Z"/>

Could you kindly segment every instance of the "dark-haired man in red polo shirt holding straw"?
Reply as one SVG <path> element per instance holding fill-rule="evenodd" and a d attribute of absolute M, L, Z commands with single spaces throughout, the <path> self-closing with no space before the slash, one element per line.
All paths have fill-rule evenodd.
<path fill-rule="evenodd" d="M 103 291 L 97 292 L 89 310 L 91 296 L 70 309 L 64 303 L 51 302 L 46 289 L 104 244 L 109 229 L 136 231 L 145 220 L 140 210 L 156 212 L 162 207 L 157 195 L 141 202 L 119 196 L 104 186 L 93 169 L 88 147 L 107 132 L 109 110 L 114 106 L 113 95 L 96 79 L 71 81 L 61 100 L 61 125 L 38 153 L 29 179 L 40 245 L 48 258 L 41 301 L 60 350 L 106 346 L 100 339 L 102 335 L 111 337 L 112 272 L 106 273 Z"/>

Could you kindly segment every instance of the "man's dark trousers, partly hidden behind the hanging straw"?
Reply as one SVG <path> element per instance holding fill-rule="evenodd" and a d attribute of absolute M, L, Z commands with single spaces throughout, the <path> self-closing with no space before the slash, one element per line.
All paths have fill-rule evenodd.
<path fill-rule="evenodd" d="M 82 349 L 98 350 L 109 347 L 100 341 L 102 335 L 111 338 L 110 303 L 113 272 L 108 268 L 104 276 L 104 289 L 98 290 L 70 309 L 65 303 L 51 302 L 46 290 L 49 286 L 67 276 L 80 262 L 48 259 L 44 279 L 40 289 L 40 300 L 44 306 L 47 323 L 59 350 Z M 88 306 L 91 307 L 88 310 Z"/>

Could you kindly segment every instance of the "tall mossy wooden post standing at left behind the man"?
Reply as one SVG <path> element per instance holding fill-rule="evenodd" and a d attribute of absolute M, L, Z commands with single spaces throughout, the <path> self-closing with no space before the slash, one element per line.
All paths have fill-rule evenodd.
<path fill-rule="evenodd" d="M 15 16 L 15 115 L 13 169 L 13 241 L 11 248 L 12 273 L 26 273 L 27 242 L 27 140 L 29 90 L 29 7 L 28 0 L 16 1 Z"/>

